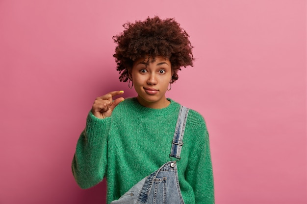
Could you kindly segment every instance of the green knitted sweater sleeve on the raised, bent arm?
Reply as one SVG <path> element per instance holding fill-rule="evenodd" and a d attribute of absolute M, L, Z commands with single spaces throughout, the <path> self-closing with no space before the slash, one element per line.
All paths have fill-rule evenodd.
<path fill-rule="evenodd" d="M 72 161 L 72 171 L 81 188 L 90 188 L 105 176 L 107 165 L 107 135 L 111 118 L 99 119 L 91 112 L 81 133 Z"/>

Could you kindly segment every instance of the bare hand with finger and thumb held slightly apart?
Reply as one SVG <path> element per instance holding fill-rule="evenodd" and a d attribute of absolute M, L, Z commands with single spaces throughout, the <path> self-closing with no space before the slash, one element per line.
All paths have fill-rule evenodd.
<path fill-rule="evenodd" d="M 98 118 L 110 117 L 114 108 L 124 100 L 123 97 L 113 101 L 113 96 L 123 94 L 124 91 L 111 91 L 103 96 L 96 98 L 92 107 L 92 113 Z"/>

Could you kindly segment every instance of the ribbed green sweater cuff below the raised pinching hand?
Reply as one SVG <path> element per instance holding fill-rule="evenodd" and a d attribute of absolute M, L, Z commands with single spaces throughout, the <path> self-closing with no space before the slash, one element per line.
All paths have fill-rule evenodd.
<path fill-rule="evenodd" d="M 84 135 L 89 144 L 100 145 L 105 141 L 111 128 L 111 117 L 98 118 L 90 111 L 86 118 Z"/>

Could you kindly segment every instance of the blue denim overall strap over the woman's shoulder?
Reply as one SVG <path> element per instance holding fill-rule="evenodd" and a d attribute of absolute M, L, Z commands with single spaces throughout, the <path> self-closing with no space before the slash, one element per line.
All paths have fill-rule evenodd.
<path fill-rule="evenodd" d="M 179 115 L 177 119 L 176 129 L 173 137 L 172 142 L 172 150 L 170 157 L 175 157 L 177 159 L 180 159 L 180 153 L 181 148 L 183 145 L 183 134 L 184 134 L 184 128 L 186 123 L 186 118 L 188 116 L 189 109 L 185 106 L 181 106 L 179 110 Z"/>

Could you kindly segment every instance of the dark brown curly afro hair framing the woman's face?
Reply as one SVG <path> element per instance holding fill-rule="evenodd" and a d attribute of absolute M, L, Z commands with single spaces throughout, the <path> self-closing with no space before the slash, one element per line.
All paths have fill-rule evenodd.
<path fill-rule="evenodd" d="M 121 74 L 120 81 L 126 82 L 129 70 L 137 59 L 150 56 L 153 61 L 156 56 L 168 59 L 172 65 L 172 81 L 178 79 L 180 67 L 192 66 L 194 57 L 189 41 L 189 35 L 174 19 L 161 20 L 159 17 L 147 18 L 145 21 L 125 23 L 124 32 L 113 36 L 117 44 L 115 48 L 115 61 L 117 70 Z M 149 57 L 148 57 L 149 59 Z"/>

